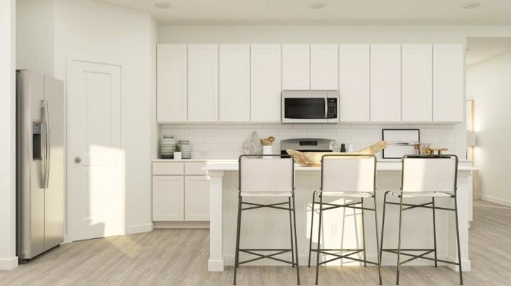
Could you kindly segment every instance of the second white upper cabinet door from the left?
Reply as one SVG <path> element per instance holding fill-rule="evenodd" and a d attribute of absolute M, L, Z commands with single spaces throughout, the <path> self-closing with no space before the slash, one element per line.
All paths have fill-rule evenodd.
<path fill-rule="evenodd" d="M 218 46 L 188 46 L 188 121 L 218 121 Z"/>

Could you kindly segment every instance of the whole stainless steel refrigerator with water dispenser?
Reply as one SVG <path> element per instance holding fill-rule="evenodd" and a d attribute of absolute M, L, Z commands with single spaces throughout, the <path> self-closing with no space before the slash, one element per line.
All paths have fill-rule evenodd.
<path fill-rule="evenodd" d="M 20 262 L 64 238 L 64 84 L 16 72 L 17 253 Z"/>

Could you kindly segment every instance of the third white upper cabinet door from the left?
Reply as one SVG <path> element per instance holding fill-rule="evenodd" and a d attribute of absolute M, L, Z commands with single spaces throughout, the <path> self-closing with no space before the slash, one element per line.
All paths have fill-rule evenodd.
<path fill-rule="evenodd" d="M 220 45 L 220 121 L 250 121 L 248 45 Z"/>

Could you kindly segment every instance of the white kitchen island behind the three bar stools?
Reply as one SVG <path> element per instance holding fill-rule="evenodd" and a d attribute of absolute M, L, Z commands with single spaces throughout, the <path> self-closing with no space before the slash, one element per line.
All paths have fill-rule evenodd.
<path fill-rule="evenodd" d="M 236 240 L 236 218 L 238 197 L 238 162 L 225 160 L 208 162 L 205 170 L 210 180 L 210 256 L 208 271 L 223 271 L 224 266 L 234 265 L 234 246 Z M 296 187 L 296 226 L 298 233 L 298 256 L 301 266 L 307 265 L 310 242 L 310 219 L 312 214 L 312 192 L 319 190 L 320 167 L 295 168 Z M 463 271 L 470 271 L 468 257 L 468 228 L 472 201 L 472 171 L 475 169 L 460 162 L 458 166 L 458 216 L 460 226 L 460 249 Z M 378 228 L 381 228 L 383 212 L 383 195 L 386 190 L 399 190 L 401 184 L 401 162 L 378 162 L 377 165 L 376 207 L 378 209 Z M 258 198 L 258 202 L 276 202 L 273 198 Z M 331 198 L 331 202 L 336 200 Z M 419 203 L 425 199 L 409 199 Z M 427 199 L 426 199 L 427 200 Z M 371 207 L 371 200 L 364 204 Z M 452 200 L 439 198 L 437 206 L 452 207 Z M 385 221 L 385 248 L 397 247 L 397 230 L 399 209 L 387 207 Z M 456 254 L 456 224 L 453 212 L 437 210 L 437 251 L 439 259 L 454 260 Z M 376 237 L 374 216 L 370 212 L 365 215 L 366 256 L 376 261 Z M 314 220 L 317 223 L 317 219 Z M 322 248 L 361 248 L 361 213 L 358 209 L 333 209 L 324 212 L 321 235 Z M 288 214 L 274 209 L 258 209 L 244 212 L 241 221 L 240 246 L 245 248 L 282 248 L 289 247 Z M 317 231 L 317 226 L 314 230 Z M 312 235 L 312 247 L 317 247 L 317 232 Z M 431 209 L 414 209 L 403 216 L 402 248 L 432 248 L 432 211 Z M 283 255 L 284 259 L 290 259 Z M 246 257 L 241 256 L 241 259 Z M 324 258 L 322 258 L 324 259 Z M 314 261 L 314 260 L 313 260 Z M 395 265 L 395 254 L 383 253 L 384 266 Z M 248 265 L 281 265 L 277 261 L 262 259 Z M 283 265 L 283 264 L 282 264 Z M 359 265 L 349 259 L 340 259 L 327 264 L 328 266 Z M 432 261 L 416 259 L 407 265 L 433 265 Z M 442 265 L 442 264 L 439 264 Z"/>

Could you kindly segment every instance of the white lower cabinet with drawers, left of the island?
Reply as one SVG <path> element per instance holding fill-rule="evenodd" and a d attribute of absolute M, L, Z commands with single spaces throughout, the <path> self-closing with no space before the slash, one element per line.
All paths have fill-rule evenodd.
<path fill-rule="evenodd" d="M 152 163 L 153 221 L 209 221 L 209 176 L 202 171 L 205 164 Z"/>

